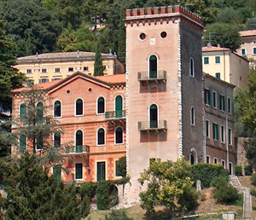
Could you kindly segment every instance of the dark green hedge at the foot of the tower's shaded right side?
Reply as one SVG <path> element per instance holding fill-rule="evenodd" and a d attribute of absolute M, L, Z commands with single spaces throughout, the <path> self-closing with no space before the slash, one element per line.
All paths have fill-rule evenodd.
<path fill-rule="evenodd" d="M 228 171 L 224 170 L 222 165 L 195 164 L 191 165 L 189 170 L 190 177 L 194 182 L 201 180 L 202 188 L 209 188 L 214 177 L 229 176 Z"/>

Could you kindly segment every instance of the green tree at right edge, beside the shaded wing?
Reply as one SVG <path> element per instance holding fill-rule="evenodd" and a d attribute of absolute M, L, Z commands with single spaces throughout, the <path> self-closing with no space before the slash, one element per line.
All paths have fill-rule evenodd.
<path fill-rule="evenodd" d="M 256 135 L 256 70 L 251 69 L 247 77 L 247 87 L 237 88 L 236 102 L 240 112 L 239 121 L 241 121 L 248 133 Z"/>

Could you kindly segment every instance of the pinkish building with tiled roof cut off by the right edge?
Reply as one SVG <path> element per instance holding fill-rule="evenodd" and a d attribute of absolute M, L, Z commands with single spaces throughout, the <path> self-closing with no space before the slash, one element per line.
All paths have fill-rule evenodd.
<path fill-rule="evenodd" d="M 250 61 L 250 67 L 256 67 L 256 30 L 247 30 L 239 32 L 242 43 L 237 53 L 246 56 Z"/>

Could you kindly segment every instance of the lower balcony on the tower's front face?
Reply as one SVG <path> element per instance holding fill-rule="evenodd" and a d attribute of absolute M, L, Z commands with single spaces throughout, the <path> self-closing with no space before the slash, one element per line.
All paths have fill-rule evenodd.
<path fill-rule="evenodd" d="M 155 130 L 158 132 L 159 130 L 164 130 L 166 132 L 167 130 L 167 121 L 166 120 L 160 120 L 160 121 L 139 121 L 138 122 L 138 130 Z"/>

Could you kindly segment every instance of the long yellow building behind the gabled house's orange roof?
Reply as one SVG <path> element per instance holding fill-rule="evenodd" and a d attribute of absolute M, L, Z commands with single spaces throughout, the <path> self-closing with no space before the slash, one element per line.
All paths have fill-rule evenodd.
<path fill-rule="evenodd" d="M 41 84 L 55 79 L 67 78 L 74 72 L 93 75 L 95 53 L 65 52 L 20 57 L 15 66 L 32 84 Z M 104 75 L 124 73 L 124 65 L 112 54 L 102 54 Z"/>

